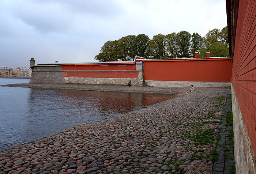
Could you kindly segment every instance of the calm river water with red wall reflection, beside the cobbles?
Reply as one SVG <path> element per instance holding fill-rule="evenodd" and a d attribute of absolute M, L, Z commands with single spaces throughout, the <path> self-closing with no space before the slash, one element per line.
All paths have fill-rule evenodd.
<path fill-rule="evenodd" d="M 0 85 L 29 79 L 0 79 Z M 170 95 L 0 87 L 0 150 L 127 113 Z"/>

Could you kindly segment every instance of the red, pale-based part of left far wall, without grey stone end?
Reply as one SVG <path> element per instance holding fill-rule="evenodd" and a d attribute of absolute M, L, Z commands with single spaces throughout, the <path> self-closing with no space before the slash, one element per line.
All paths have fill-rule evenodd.
<path fill-rule="evenodd" d="M 142 69 L 136 70 L 133 61 L 61 64 L 66 83 L 80 84 L 127 84 L 143 86 Z"/>

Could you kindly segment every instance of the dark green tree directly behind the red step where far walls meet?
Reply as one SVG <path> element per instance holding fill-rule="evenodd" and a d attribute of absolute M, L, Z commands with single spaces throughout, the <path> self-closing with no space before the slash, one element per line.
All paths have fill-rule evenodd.
<path fill-rule="evenodd" d="M 139 34 L 136 38 L 137 53 L 140 57 L 148 58 L 148 43 L 150 38 L 146 34 Z"/>

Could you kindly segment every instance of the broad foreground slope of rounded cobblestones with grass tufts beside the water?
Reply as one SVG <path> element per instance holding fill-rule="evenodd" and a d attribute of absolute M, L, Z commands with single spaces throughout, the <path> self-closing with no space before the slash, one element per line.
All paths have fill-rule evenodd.
<path fill-rule="evenodd" d="M 0 174 L 211 174 L 229 88 L 201 88 L 0 151 Z"/>

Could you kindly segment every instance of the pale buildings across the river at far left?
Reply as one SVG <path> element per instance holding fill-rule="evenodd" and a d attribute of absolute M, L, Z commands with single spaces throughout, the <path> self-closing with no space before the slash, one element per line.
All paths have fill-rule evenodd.
<path fill-rule="evenodd" d="M 0 77 L 30 78 L 31 74 L 32 74 L 32 69 L 31 68 L 0 67 Z"/>

